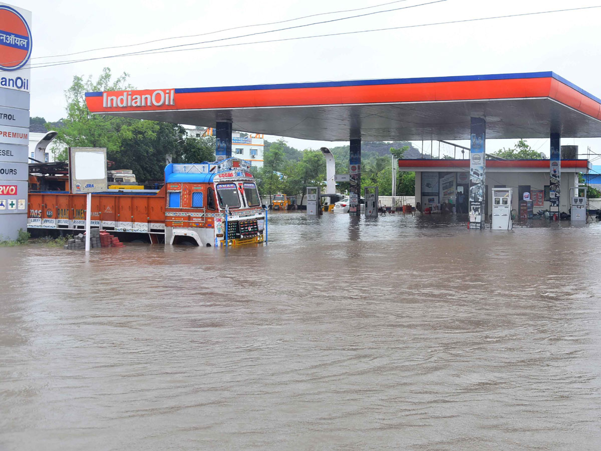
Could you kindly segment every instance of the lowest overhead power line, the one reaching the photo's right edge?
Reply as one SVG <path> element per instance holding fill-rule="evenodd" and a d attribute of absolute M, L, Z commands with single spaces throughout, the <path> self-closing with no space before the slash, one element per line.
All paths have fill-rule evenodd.
<path fill-rule="evenodd" d="M 419 6 L 419 5 L 416 5 L 416 6 Z M 126 56 L 154 55 L 154 54 L 182 52 L 182 51 L 190 51 L 190 50 L 236 47 L 236 46 L 244 46 L 244 45 L 251 45 L 251 44 L 265 44 L 265 43 L 272 43 L 272 42 L 294 41 L 294 40 L 301 40 L 301 39 L 312 39 L 312 38 L 320 38 L 320 37 L 331 37 L 331 36 L 342 36 L 342 35 L 349 35 L 349 34 L 369 33 L 369 32 L 375 32 L 375 31 L 390 31 L 390 30 L 394 30 L 394 29 L 419 28 L 421 26 L 450 25 L 450 24 L 454 24 L 454 23 L 478 22 L 480 20 L 508 19 L 510 17 L 535 16 L 538 14 L 549 14 L 549 13 L 564 13 L 564 12 L 568 12 L 568 11 L 590 10 L 590 9 L 594 9 L 594 8 L 601 8 L 601 5 L 580 7 L 580 8 L 567 8 L 567 9 L 563 9 L 563 10 L 536 11 L 534 13 L 507 14 L 505 16 L 477 17 L 475 19 L 448 20 L 446 22 L 432 22 L 432 23 L 421 23 L 418 25 L 392 26 L 392 27 L 388 27 L 388 28 L 374 28 L 374 29 L 366 29 L 366 30 L 359 30 L 359 31 L 346 31 L 346 32 L 329 33 L 329 34 L 317 34 L 317 35 L 300 36 L 300 37 L 292 37 L 292 38 L 270 39 L 270 40 L 264 40 L 264 41 L 251 41 L 251 42 L 241 42 L 241 43 L 234 43 L 234 44 L 222 44 L 222 45 L 217 45 L 217 46 L 205 46 L 205 47 L 196 47 L 196 48 L 189 48 L 189 49 L 171 49 L 171 50 L 157 49 L 157 51 L 132 52 L 129 54 L 109 55 L 108 57 L 86 58 L 83 60 L 72 60 L 72 61 L 58 61 L 55 63 L 41 64 L 40 66 L 33 66 L 32 69 L 38 69 L 41 67 L 63 66 L 65 64 L 83 63 L 85 61 L 105 60 L 105 59 L 109 59 L 109 58 L 126 57 Z M 189 45 L 192 45 L 192 44 L 189 44 Z"/>

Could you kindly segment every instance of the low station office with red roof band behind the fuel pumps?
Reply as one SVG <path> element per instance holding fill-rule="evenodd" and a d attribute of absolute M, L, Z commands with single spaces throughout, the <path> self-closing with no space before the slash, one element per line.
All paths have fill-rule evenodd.
<path fill-rule="evenodd" d="M 549 209 L 551 161 L 540 160 L 486 160 L 484 211 L 492 213 L 492 188 L 511 188 L 511 209 L 519 210 L 519 201 L 533 201 L 537 210 Z M 579 173 L 588 173 L 586 159 L 561 160 L 560 212 L 570 211 L 570 188 L 578 183 Z M 459 212 L 468 212 L 469 160 L 453 159 L 400 159 L 400 171 L 415 171 L 415 200 L 423 208 L 438 210 L 442 203 L 451 203 Z M 463 196 L 462 196 L 463 194 Z M 463 204 L 462 202 L 463 201 Z"/>

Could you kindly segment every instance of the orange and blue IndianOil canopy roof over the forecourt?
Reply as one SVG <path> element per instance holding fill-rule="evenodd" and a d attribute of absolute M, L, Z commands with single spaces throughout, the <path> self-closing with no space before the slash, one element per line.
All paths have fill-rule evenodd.
<path fill-rule="evenodd" d="M 86 93 L 91 112 L 320 141 L 601 137 L 601 100 L 553 72 Z"/>

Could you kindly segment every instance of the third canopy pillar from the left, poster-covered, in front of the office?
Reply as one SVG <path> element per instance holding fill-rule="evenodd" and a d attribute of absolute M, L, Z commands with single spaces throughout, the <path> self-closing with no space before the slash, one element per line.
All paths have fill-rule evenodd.
<path fill-rule="evenodd" d="M 469 229 L 484 229 L 486 217 L 486 120 L 472 117 L 469 146 Z"/>

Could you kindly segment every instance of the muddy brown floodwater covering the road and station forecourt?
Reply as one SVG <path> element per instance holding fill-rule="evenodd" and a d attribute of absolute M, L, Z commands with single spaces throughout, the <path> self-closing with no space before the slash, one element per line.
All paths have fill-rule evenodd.
<path fill-rule="evenodd" d="M 599 243 L 273 213 L 259 247 L 0 248 L 0 450 L 599 450 Z"/>

